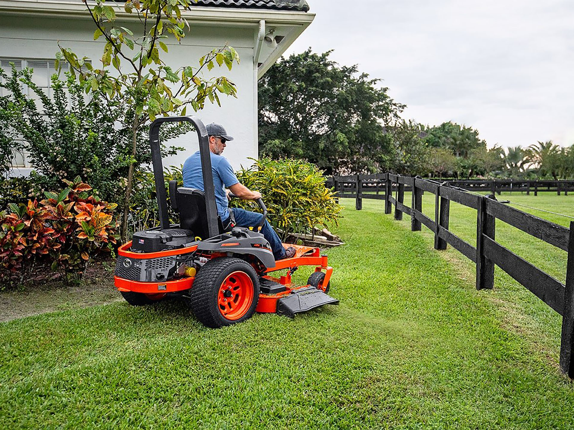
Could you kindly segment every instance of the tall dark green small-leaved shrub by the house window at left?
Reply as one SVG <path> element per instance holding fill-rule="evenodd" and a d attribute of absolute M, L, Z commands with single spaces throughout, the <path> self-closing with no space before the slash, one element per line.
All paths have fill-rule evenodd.
<path fill-rule="evenodd" d="M 133 112 L 126 112 L 125 105 L 108 100 L 100 92 L 92 92 L 87 100 L 82 87 L 71 77 L 63 81 L 53 75 L 52 96 L 48 96 L 33 83 L 32 75 L 32 69 L 13 68 L 10 76 L 0 69 L 0 88 L 7 94 L 0 97 L 0 138 L 21 138 L 16 140 L 29 153 L 36 194 L 56 189 L 61 179 L 79 175 L 103 200 L 119 200 L 125 194 L 130 163 L 135 159 L 135 170 L 145 171 L 151 161 L 147 144 L 139 145 L 132 156 L 129 116 Z M 190 128 L 188 123 L 165 124 L 160 138 L 165 142 Z M 149 126 L 139 128 L 139 142 L 148 141 L 148 132 Z M 0 139 L 0 149 L 14 144 L 14 139 Z M 163 147 L 162 155 L 174 155 L 179 150 Z"/>

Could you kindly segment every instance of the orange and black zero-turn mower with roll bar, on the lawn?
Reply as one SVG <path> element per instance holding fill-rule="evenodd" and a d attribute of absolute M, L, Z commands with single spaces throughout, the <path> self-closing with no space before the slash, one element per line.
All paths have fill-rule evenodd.
<path fill-rule="evenodd" d="M 169 183 L 169 203 L 180 224 L 169 224 L 168 200 L 159 131 L 164 122 L 191 122 L 199 137 L 204 191 Z M 180 116 L 158 118 L 150 127 L 150 145 L 160 226 L 134 233 L 118 250 L 115 286 L 134 306 L 179 295 L 208 327 L 223 327 L 251 318 L 255 312 L 294 317 L 324 304 L 338 304 L 327 295 L 333 269 L 319 248 L 296 248 L 291 258 L 275 261 L 263 234 L 245 227 L 224 229 L 217 215 L 207 130 L 201 120 Z M 259 230 L 265 222 L 263 210 Z M 203 240 L 201 238 L 204 238 Z M 207 238 L 207 239 L 205 239 Z M 315 266 L 307 285 L 294 286 L 291 275 L 302 265 Z M 270 272 L 286 270 L 280 277 Z"/>

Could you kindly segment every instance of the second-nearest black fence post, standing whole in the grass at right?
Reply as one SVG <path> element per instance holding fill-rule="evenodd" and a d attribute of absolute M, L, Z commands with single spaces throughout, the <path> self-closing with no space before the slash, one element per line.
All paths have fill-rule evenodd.
<path fill-rule="evenodd" d="M 476 290 L 494 288 L 494 263 L 484 256 L 484 236 L 494 240 L 496 218 L 486 213 L 486 199 L 497 200 L 494 194 L 480 198 L 476 216 Z"/>

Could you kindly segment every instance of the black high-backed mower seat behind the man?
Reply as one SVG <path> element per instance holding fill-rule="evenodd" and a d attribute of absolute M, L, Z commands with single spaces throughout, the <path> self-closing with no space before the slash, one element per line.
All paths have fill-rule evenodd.
<path fill-rule="evenodd" d="M 209 239 L 205 194 L 195 188 L 178 187 L 177 181 L 169 181 L 169 201 L 172 209 L 179 212 L 180 228 L 192 230 L 196 237 Z M 219 233 L 224 233 L 218 217 Z"/>

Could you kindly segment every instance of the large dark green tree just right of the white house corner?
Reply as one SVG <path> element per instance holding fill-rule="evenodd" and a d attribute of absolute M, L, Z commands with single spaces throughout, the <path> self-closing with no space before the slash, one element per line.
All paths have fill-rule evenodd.
<path fill-rule="evenodd" d="M 384 126 L 404 105 L 356 65 L 311 49 L 277 62 L 259 83 L 259 154 L 302 157 L 328 174 L 389 167 Z"/>

